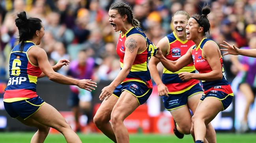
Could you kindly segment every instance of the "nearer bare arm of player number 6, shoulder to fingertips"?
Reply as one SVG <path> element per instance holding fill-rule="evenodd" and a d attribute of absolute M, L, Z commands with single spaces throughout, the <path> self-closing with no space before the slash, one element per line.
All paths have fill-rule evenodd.
<path fill-rule="evenodd" d="M 58 72 L 55 72 L 52 67 L 50 66 L 50 63 L 47 59 L 46 52 L 39 48 L 34 47 L 30 49 L 29 53 L 31 56 L 33 56 L 41 69 L 41 71 L 49 78 L 49 80 L 52 80 L 57 83 L 66 84 L 66 85 L 77 85 L 78 87 L 82 89 L 86 89 L 88 91 L 94 90 L 93 87 L 97 87 L 96 83 L 90 80 L 76 80 L 73 78 L 68 78 L 66 76 L 63 76 L 62 74 L 59 74 Z"/>

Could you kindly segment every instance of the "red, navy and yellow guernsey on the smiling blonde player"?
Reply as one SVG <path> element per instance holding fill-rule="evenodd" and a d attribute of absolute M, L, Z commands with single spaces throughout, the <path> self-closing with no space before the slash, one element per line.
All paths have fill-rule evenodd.
<path fill-rule="evenodd" d="M 175 32 L 168 34 L 166 36 L 169 40 L 169 49 L 165 56 L 166 59 L 171 61 L 178 60 L 181 56 L 187 53 L 190 47 L 195 45 L 195 43 L 191 40 L 182 41 L 178 38 Z M 168 88 L 168 94 L 180 94 L 185 91 L 191 89 L 194 85 L 199 83 L 198 80 L 189 80 L 182 81 L 178 74 L 181 72 L 191 72 L 194 73 L 196 71 L 194 67 L 194 63 L 189 63 L 186 67 L 183 67 L 177 72 L 168 71 L 166 68 L 163 70 L 162 81 L 164 85 Z"/>

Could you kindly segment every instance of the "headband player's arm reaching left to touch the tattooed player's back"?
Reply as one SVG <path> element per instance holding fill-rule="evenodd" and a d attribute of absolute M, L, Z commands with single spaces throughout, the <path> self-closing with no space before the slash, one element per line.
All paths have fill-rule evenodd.
<path fill-rule="evenodd" d="M 192 55 L 191 55 L 191 48 L 189 48 L 186 54 L 181 56 L 176 61 L 167 60 L 163 56 L 161 52 L 161 48 L 160 47 L 157 47 L 157 48 L 158 48 L 158 51 L 157 51 L 157 54 L 155 54 L 155 57 L 160 60 L 160 62 L 164 65 L 166 69 L 168 69 L 168 71 L 171 71 L 171 72 L 179 71 L 183 67 L 187 66 L 189 63 L 193 62 Z"/>

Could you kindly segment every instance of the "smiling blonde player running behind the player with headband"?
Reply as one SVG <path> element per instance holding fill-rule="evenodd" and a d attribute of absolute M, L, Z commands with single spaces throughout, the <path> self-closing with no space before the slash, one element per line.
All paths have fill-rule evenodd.
<path fill-rule="evenodd" d="M 166 59 L 171 61 L 178 60 L 178 58 L 186 54 L 189 48 L 195 44 L 186 38 L 185 27 L 189 18 L 190 16 L 187 12 L 177 11 L 172 18 L 174 32 L 165 36 L 157 44 Z M 171 112 L 176 122 L 174 122 L 174 134 L 178 138 L 183 138 L 184 134 L 190 134 L 191 113 L 189 109 L 194 113 L 202 97 L 203 90 L 199 80 L 191 79 L 189 81 L 182 81 L 178 76 L 181 72 L 195 73 L 196 69 L 193 62 L 177 72 L 171 72 L 164 68 L 162 80 L 157 71 L 157 64 L 159 62 L 157 58 L 152 57 L 149 62 L 149 70 L 153 80 L 157 84 L 159 95 L 163 96 L 165 109 Z M 209 134 L 211 136 L 209 142 L 216 142 L 216 133 L 210 123 L 207 129 L 210 129 L 209 131 L 211 132 Z"/>

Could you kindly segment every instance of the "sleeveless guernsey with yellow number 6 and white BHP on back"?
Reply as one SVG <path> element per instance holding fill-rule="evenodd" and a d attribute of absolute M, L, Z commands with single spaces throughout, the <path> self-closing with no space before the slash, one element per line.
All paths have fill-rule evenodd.
<path fill-rule="evenodd" d="M 11 51 L 9 61 L 9 81 L 4 94 L 4 102 L 14 102 L 34 98 L 36 94 L 37 77 L 42 73 L 39 66 L 28 58 L 28 51 L 36 46 L 26 41 L 23 51 L 16 45 Z"/>

